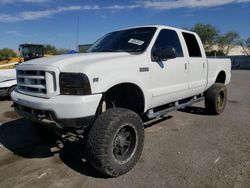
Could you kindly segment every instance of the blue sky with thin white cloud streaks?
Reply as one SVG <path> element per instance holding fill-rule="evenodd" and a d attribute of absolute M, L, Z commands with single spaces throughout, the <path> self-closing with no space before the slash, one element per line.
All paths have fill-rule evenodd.
<path fill-rule="evenodd" d="M 198 22 L 247 39 L 250 0 L 0 0 L 0 48 L 35 43 L 76 49 L 77 31 L 78 44 L 89 44 L 121 28 L 191 28 Z"/>

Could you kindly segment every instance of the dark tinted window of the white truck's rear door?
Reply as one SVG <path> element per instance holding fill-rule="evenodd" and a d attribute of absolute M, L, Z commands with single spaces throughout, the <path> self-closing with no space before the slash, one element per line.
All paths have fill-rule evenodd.
<path fill-rule="evenodd" d="M 189 57 L 202 58 L 201 49 L 195 35 L 191 33 L 182 33 L 187 45 Z"/>

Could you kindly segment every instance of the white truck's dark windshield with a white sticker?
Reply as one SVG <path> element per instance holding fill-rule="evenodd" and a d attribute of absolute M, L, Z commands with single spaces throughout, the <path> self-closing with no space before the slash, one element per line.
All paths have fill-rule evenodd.
<path fill-rule="evenodd" d="M 155 27 L 115 31 L 97 40 L 88 52 L 143 52 L 155 31 Z"/>

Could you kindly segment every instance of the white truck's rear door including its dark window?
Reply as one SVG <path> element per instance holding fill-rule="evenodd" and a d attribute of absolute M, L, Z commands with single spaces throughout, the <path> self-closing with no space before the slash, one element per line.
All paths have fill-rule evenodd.
<path fill-rule="evenodd" d="M 188 51 L 189 95 L 197 95 L 204 91 L 207 83 L 207 59 L 198 36 L 182 33 Z"/>

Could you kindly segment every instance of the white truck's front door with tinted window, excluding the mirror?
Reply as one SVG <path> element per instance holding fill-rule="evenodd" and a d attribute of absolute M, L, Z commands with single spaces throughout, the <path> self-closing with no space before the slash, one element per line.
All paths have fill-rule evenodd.
<path fill-rule="evenodd" d="M 152 48 L 153 53 L 156 48 L 170 46 L 177 53 L 174 59 L 151 62 L 152 107 L 182 99 L 188 90 L 187 60 L 179 35 L 175 30 L 162 29 Z"/>

